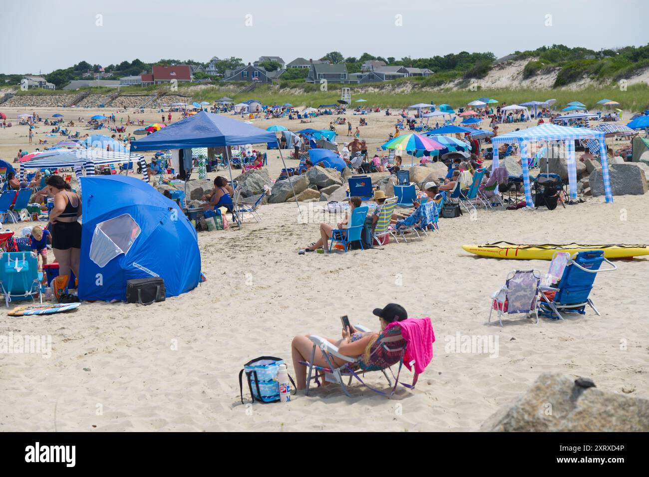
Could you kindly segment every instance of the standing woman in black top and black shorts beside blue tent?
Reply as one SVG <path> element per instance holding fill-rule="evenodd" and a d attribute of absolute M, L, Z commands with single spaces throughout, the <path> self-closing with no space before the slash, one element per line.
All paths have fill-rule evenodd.
<path fill-rule="evenodd" d="M 62 177 L 52 175 L 47 178 L 49 191 L 54 195 L 54 208 L 49 214 L 52 233 L 52 250 L 58 262 L 58 277 L 52 287 L 59 301 L 66 298 L 67 281 L 70 270 L 79 277 L 81 255 L 81 199 L 71 191 Z"/>

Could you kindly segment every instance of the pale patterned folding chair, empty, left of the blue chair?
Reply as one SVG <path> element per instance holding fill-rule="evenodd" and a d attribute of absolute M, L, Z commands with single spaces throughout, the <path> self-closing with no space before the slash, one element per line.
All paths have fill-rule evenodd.
<path fill-rule="evenodd" d="M 498 312 L 498 323 L 502 326 L 502 315 L 513 313 L 534 313 L 536 323 L 539 323 L 537 313 L 537 300 L 541 286 L 541 274 L 538 270 L 513 270 L 509 272 L 507 280 L 498 291 L 491 294 L 491 313 Z"/>

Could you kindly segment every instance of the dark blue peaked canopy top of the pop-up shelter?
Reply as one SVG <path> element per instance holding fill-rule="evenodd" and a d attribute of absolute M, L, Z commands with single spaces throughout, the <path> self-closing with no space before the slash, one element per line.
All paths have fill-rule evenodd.
<path fill-rule="evenodd" d="M 276 141 L 275 133 L 201 111 L 130 143 L 131 151 L 234 146 Z"/>

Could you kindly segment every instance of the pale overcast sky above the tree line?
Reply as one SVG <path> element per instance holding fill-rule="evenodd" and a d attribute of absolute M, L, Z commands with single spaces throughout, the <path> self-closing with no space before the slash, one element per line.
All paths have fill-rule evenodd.
<path fill-rule="evenodd" d="M 0 73 L 49 73 L 81 60 L 207 62 L 212 56 L 330 51 L 402 58 L 563 43 L 649 42 L 647 0 L 3 0 Z M 101 17 L 97 17 L 101 16 Z M 398 26 L 398 25 L 402 26 Z"/>

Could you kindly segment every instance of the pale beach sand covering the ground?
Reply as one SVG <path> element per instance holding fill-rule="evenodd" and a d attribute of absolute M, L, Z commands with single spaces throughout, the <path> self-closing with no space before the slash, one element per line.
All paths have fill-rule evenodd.
<path fill-rule="evenodd" d="M 18 113 L 3 112 L 10 118 Z M 160 115 L 143 116 L 154 121 Z M 356 127 L 358 118 L 348 117 Z M 330 119 L 310 126 L 326 127 Z M 373 150 L 387 139 L 395 118 L 373 114 L 368 120 L 361 137 Z M 275 123 L 297 129 L 295 121 L 255 124 Z M 26 136 L 24 127 L 0 130 L 0 157 L 11 160 L 19 147 L 31 151 Z M 281 168 L 274 154 L 271 177 Z M 0 335 L 51 336 L 51 356 L 0 354 L 0 430 L 470 431 L 545 372 L 587 376 L 602 389 L 647 397 L 648 259 L 620 261 L 617 271 L 597 276 L 591 297 L 600 316 L 587 310 L 583 317 L 535 324 L 513 315 L 501 328 L 497 321 L 487 323 L 489 295 L 508 271 L 545 273 L 549 262 L 476 258 L 461 249 L 463 243 L 497 240 L 646 243 L 647 201 L 620 196 L 614 204 L 587 198 L 554 211 L 481 210 L 440 219 L 439 234 L 428 238 L 304 256 L 297 251 L 315 241 L 317 221 L 301 223 L 295 203 L 262 206 L 260 223 L 199 234 L 208 281 L 190 293 L 148 307 L 84 303 L 75 313 L 51 317 L 1 313 Z M 241 405 L 243 363 L 279 356 L 293 374 L 295 334 L 337 337 L 344 314 L 376 328 L 371 310 L 387 302 L 402 304 L 411 317 L 432 319 L 434 358 L 414 391 L 400 388 L 388 400 L 353 385 L 347 398 L 330 385 L 289 404 Z M 458 333 L 487 336 L 492 343 L 497 338 L 498 347 L 456 352 Z M 405 382 L 411 378 L 402 373 Z M 368 381 L 384 386 L 382 379 L 374 374 Z"/>

